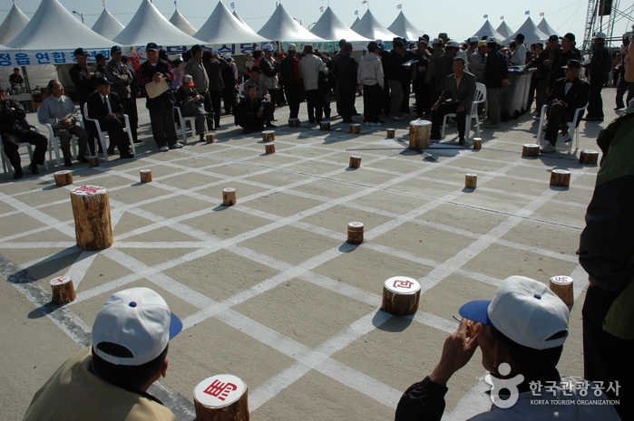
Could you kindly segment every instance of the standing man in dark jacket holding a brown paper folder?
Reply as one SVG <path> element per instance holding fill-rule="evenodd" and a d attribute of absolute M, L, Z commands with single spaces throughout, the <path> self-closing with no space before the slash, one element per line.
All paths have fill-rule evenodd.
<path fill-rule="evenodd" d="M 161 94 L 148 99 L 145 107 L 150 110 L 151 133 L 156 146 L 162 152 L 170 149 L 182 148 L 176 138 L 176 124 L 174 123 L 174 104 L 172 103 L 171 82 L 174 81 L 174 73 L 171 65 L 159 59 L 159 47 L 156 43 L 148 43 L 145 47 L 148 61 L 141 64 L 136 72 L 139 83 L 145 86 L 146 91 L 150 83 L 157 85 L 167 83 L 168 89 Z"/>

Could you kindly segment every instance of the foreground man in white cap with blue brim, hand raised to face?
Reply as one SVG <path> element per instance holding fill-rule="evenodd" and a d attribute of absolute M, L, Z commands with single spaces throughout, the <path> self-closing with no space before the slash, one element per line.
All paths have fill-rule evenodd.
<path fill-rule="evenodd" d="M 448 380 L 478 347 L 490 372 L 485 380 L 493 386 L 493 406 L 470 419 L 620 419 L 601 388 L 580 377 L 561 378 L 555 368 L 568 336 L 569 311 L 548 286 L 511 276 L 492 301 L 467 302 L 460 315 L 432 374 L 405 390 L 395 421 L 441 419 Z"/>

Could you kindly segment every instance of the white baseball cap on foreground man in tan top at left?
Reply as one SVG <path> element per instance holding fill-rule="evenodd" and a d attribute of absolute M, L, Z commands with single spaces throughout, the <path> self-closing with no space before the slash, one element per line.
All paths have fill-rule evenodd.
<path fill-rule="evenodd" d="M 182 322 L 171 313 L 161 295 L 149 288 L 131 288 L 113 293 L 93 323 L 93 352 L 118 366 L 140 366 L 161 355 L 171 338 L 182 330 Z M 99 349 L 112 342 L 132 353 L 132 358 L 110 355 Z"/>

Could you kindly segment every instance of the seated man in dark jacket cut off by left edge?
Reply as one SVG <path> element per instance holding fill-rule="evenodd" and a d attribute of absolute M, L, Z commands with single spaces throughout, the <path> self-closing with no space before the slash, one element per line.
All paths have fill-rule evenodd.
<path fill-rule="evenodd" d="M 0 83 L 0 136 L 5 148 L 6 157 L 14 167 L 14 179 L 22 178 L 22 165 L 20 163 L 21 142 L 29 142 L 35 146 L 33 158 L 29 169 L 31 173 L 38 174 L 38 165 L 44 165 L 44 156 L 48 139 L 44 135 L 34 132 L 25 120 L 24 108 L 17 100 L 7 100 L 5 87 Z"/>

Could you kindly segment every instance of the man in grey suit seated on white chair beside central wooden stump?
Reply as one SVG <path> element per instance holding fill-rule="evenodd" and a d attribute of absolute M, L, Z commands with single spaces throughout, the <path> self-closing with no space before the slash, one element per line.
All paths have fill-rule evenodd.
<path fill-rule="evenodd" d="M 454 74 L 447 76 L 444 91 L 440 98 L 432 106 L 432 136 L 431 139 L 441 139 L 440 128 L 446 114 L 455 113 L 455 122 L 458 124 L 458 144 L 464 145 L 464 130 L 466 116 L 471 112 L 471 103 L 475 95 L 475 76 L 464 72 L 464 59 L 454 59 Z"/>

